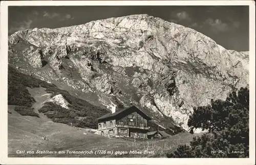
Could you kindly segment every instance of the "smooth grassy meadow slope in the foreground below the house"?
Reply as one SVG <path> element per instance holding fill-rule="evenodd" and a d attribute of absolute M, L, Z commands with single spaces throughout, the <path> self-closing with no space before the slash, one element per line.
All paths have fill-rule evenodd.
<path fill-rule="evenodd" d="M 10 157 L 165 157 L 165 152 L 174 150 L 179 144 L 189 143 L 195 135 L 180 133 L 168 139 L 134 142 L 133 139 L 107 138 L 66 124 L 54 123 L 44 117 L 22 116 L 8 110 L 8 155 Z M 87 132 L 84 135 L 83 132 Z M 47 136 L 49 140 L 42 140 Z M 154 151 L 154 154 L 126 155 L 77 155 L 77 154 L 16 154 L 16 150 L 35 151 Z"/>

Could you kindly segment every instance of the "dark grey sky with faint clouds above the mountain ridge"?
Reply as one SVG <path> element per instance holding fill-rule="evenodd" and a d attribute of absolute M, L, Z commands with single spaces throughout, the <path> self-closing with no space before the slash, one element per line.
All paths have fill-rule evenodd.
<path fill-rule="evenodd" d="M 148 14 L 195 29 L 228 50 L 249 51 L 248 6 L 11 6 L 8 34 L 133 14 Z"/>

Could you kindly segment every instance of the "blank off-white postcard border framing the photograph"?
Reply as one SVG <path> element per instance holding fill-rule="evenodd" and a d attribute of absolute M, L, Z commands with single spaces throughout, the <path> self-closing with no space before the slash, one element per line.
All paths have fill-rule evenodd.
<path fill-rule="evenodd" d="M 249 6 L 249 158 L 11 158 L 8 154 L 8 6 Z M 0 163 L 2 164 L 255 164 L 255 2 L 254 1 L 2 1 L 0 58 Z"/>

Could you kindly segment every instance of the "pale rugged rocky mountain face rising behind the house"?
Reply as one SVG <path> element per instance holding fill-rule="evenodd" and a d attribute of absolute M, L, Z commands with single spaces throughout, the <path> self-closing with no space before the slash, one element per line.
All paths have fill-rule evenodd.
<path fill-rule="evenodd" d="M 107 108 L 132 101 L 185 129 L 194 106 L 248 84 L 248 58 L 248 52 L 226 50 L 193 29 L 148 15 L 9 37 L 9 63 L 22 72 L 94 93 Z"/>

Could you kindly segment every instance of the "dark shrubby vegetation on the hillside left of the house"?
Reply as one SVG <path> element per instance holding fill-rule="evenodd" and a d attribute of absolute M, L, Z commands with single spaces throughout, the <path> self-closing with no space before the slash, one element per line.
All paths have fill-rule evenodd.
<path fill-rule="evenodd" d="M 35 100 L 31 97 L 27 87 L 44 87 L 47 93 L 52 93 L 53 96 L 60 94 L 71 104 L 70 109 L 65 109 L 53 103 L 45 103 L 39 109 L 39 112 L 45 113 L 54 122 L 65 124 L 74 123 L 74 126 L 77 127 L 97 128 L 96 119 L 108 113 L 108 110 L 71 96 L 69 92 L 57 88 L 54 84 L 19 73 L 13 67 L 9 66 L 8 105 L 18 105 L 19 107 L 16 107 L 15 110 L 22 115 L 38 116 L 31 108 Z"/>

